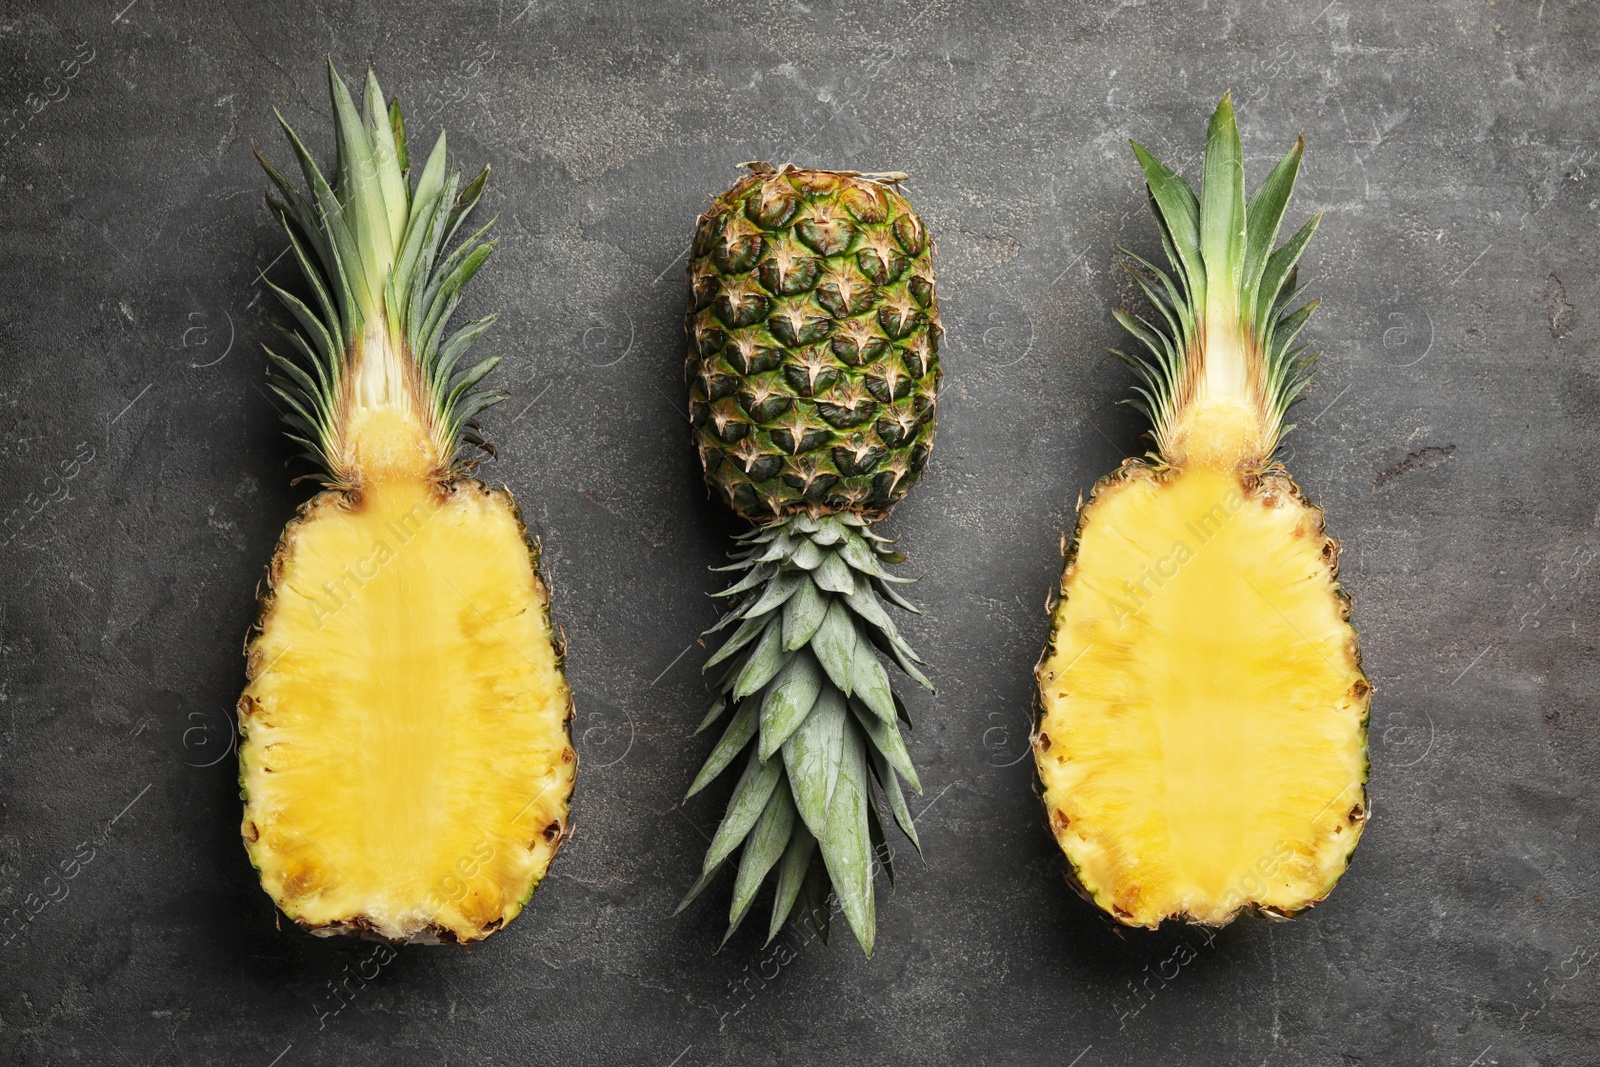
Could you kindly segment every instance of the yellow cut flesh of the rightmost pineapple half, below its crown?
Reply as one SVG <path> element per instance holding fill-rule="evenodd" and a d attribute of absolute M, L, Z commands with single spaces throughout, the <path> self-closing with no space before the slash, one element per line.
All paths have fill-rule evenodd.
<path fill-rule="evenodd" d="M 1040 664 L 1051 830 L 1118 921 L 1291 915 L 1366 819 L 1338 547 L 1288 477 L 1130 464 L 1096 491 Z"/>

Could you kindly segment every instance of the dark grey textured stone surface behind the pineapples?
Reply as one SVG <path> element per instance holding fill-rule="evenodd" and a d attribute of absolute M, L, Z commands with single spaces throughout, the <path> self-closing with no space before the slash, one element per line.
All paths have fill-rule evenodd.
<path fill-rule="evenodd" d="M 0 8 L 0 905 L 32 915 L 0 931 L 0 1062 L 1597 1062 L 1600 8 Z M 486 472 L 546 537 L 584 765 L 523 918 L 400 953 L 320 1021 L 374 949 L 275 928 L 229 713 L 307 493 L 262 390 L 283 242 L 250 146 L 288 157 L 277 106 L 331 152 L 325 53 L 494 166 L 469 310 L 504 314 L 514 398 Z M 1104 354 L 1115 250 L 1155 250 L 1126 139 L 1192 173 L 1229 86 L 1251 181 L 1304 130 L 1291 221 L 1326 211 L 1290 464 L 1346 544 L 1378 696 L 1349 875 L 1206 944 L 1069 894 L 1026 737 L 1058 534 L 1141 450 Z M 906 170 L 941 251 L 939 446 L 888 523 L 941 685 L 914 694 L 930 859 L 870 961 L 754 931 L 714 953 L 718 894 L 667 918 L 725 797 L 678 806 L 733 531 L 682 421 L 682 253 L 750 158 Z"/>

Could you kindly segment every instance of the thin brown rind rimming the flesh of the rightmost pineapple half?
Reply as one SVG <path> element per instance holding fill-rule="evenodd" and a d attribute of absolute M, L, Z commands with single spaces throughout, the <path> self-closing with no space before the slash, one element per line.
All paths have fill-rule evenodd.
<path fill-rule="evenodd" d="M 1304 512 L 1301 518 L 1301 525 L 1306 526 L 1304 536 L 1312 539 L 1322 537 L 1320 558 L 1325 569 L 1320 579 L 1326 582 L 1328 597 L 1338 605 L 1339 622 L 1349 630 L 1349 641 L 1342 645 L 1346 654 L 1342 665 L 1346 665 L 1355 678 L 1349 691 L 1349 704 L 1354 705 L 1358 715 L 1358 736 L 1355 741 L 1362 752 L 1362 765 L 1358 776 L 1346 787 L 1344 792 L 1339 793 L 1339 813 L 1342 813 L 1341 822 L 1344 830 L 1349 832 L 1349 837 L 1342 837 L 1341 833 L 1347 845 L 1333 846 L 1333 851 L 1325 856 L 1325 877 L 1307 886 L 1293 905 L 1285 907 L 1282 904 L 1267 904 L 1253 899 L 1253 894 L 1246 888 L 1248 883 L 1251 880 L 1259 881 L 1264 872 L 1269 872 L 1269 875 L 1275 873 L 1280 865 L 1278 861 L 1282 861 L 1282 854 L 1278 851 L 1262 853 L 1256 864 L 1235 872 L 1229 889 L 1216 901 L 1216 905 L 1206 909 L 1205 913 L 1197 915 L 1184 909 L 1158 913 L 1146 910 L 1144 913 L 1138 913 L 1133 907 L 1133 897 L 1142 886 L 1131 880 L 1122 885 L 1106 885 L 1104 878 L 1094 878 L 1090 875 L 1085 857 L 1085 841 L 1080 833 L 1082 827 L 1074 830 L 1074 821 L 1067 816 L 1062 805 L 1062 798 L 1070 795 L 1070 790 L 1054 789 L 1051 785 L 1051 779 L 1054 777 L 1051 761 L 1056 760 L 1056 757 L 1051 755 L 1054 741 L 1051 739 L 1050 731 L 1056 729 L 1058 734 L 1067 733 L 1064 712 L 1069 705 L 1069 701 L 1051 699 L 1050 696 L 1051 689 L 1062 685 L 1062 680 L 1056 675 L 1053 661 L 1056 659 L 1062 641 L 1061 630 L 1066 616 L 1066 605 L 1070 601 L 1075 587 L 1083 579 L 1078 555 L 1083 545 L 1085 531 L 1098 518 L 1101 506 L 1130 483 L 1138 480 L 1162 483 L 1163 480 L 1170 480 L 1181 474 L 1181 469 L 1166 467 L 1165 464 L 1134 458 L 1125 459 L 1122 466 L 1094 483 L 1094 488 L 1090 491 L 1088 502 L 1080 501 L 1078 518 L 1072 539 L 1062 539 L 1064 566 L 1061 582 L 1046 605 L 1046 613 L 1051 617 L 1050 638 L 1038 664 L 1034 669 L 1035 689 L 1032 749 L 1035 769 L 1040 779 L 1040 797 L 1045 801 L 1046 830 L 1067 861 L 1064 870 L 1067 886 L 1118 925 L 1155 929 L 1163 920 L 1171 918 L 1202 926 L 1226 926 L 1240 913 L 1251 913 L 1269 920 L 1290 920 L 1322 904 L 1328 894 L 1333 893 L 1339 877 L 1349 867 L 1350 857 L 1355 854 L 1355 848 L 1360 843 L 1362 830 L 1371 816 L 1371 800 L 1366 789 L 1370 771 L 1366 741 L 1368 723 L 1371 718 L 1373 686 L 1362 670 L 1360 645 L 1357 641 L 1355 629 L 1349 624 L 1354 601 L 1349 592 L 1339 584 L 1339 542 L 1325 534 L 1322 509 L 1307 499 L 1301 486 L 1280 464 L 1274 464 L 1261 474 L 1243 475 L 1246 502 L 1266 498 L 1269 507 L 1301 509 Z M 1349 803 L 1346 805 L 1344 801 Z"/>

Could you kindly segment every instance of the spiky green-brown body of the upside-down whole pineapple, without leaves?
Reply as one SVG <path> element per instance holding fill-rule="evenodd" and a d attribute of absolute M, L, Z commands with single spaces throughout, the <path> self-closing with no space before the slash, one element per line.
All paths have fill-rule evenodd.
<path fill-rule="evenodd" d="M 739 515 L 886 514 L 933 445 L 933 242 L 899 176 L 752 173 L 699 218 L 690 414 Z"/>

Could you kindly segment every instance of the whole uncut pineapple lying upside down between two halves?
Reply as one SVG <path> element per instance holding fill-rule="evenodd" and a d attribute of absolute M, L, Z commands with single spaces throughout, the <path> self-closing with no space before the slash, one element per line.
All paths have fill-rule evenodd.
<path fill-rule="evenodd" d="M 885 601 L 915 611 L 872 523 L 933 443 L 939 306 L 933 243 L 904 174 L 747 163 L 701 216 L 690 264 L 690 414 L 706 482 L 754 525 L 712 632 L 731 637 L 701 723 L 730 721 L 693 797 L 739 768 L 701 894 L 741 848 L 728 936 L 773 875 L 768 941 L 790 915 L 826 936 L 837 897 L 867 955 L 874 873 L 893 878 L 882 806 L 920 851 L 901 779 L 920 792 L 883 657 L 930 691 Z M 726 937 L 725 937 L 726 941 Z"/>

